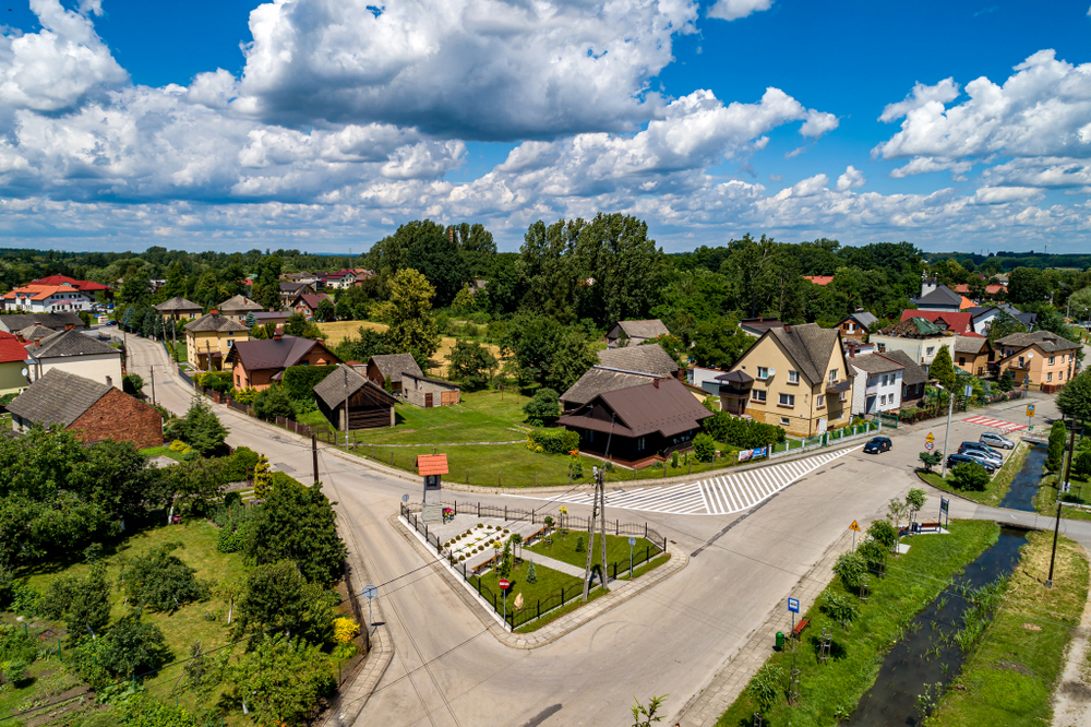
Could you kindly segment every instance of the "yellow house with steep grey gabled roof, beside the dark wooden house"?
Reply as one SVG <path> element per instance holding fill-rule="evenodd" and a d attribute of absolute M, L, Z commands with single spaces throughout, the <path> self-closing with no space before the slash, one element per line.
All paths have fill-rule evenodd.
<path fill-rule="evenodd" d="M 810 437 L 844 427 L 852 374 L 837 329 L 816 323 L 769 329 L 723 377 L 723 408 Z"/>

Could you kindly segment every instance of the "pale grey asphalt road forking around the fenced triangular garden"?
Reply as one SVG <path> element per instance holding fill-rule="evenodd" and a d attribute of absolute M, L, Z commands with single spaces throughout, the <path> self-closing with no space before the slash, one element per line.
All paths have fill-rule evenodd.
<path fill-rule="evenodd" d="M 183 413 L 192 393 L 172 373 L 163 348 L 132 337 L 129 345 L 130 370 L 145 379 L 154 370 L 158 403 Z M 1052 398 L 1036 403 L 1036 422 L 1056 414 Z M 230 444 L 262 452 L 275 468 L 309 480 L 311 452 L 300 438 L 226 407 L 214 408 L 231 429 Z M 990 415 L 1022 421 L 1022 412 L 1023 404 L 1015 402 Z M 791 595 L 853 520 L 866 527 L 885 514 L 891 498 L 921 486 L 913 469 L 928 430 L 942 445 L 943 422 L 887 431 L 892 451 L 864 455 L 856 449 L 743 513 L 688 516 L 608 506 L 608 519 L 647 521 L 668 535 L 672 548 L 696 555 L 674 576 L 532 652 L 495 641 L 391 525 L 401 496 L 416 494 L 412 482 L 323 453 L 324 489 L 339 502 L 350 550 L 380 586 L 395 645 L 394 660 L 358 724 L 628 725 L 633 698 L 646 701 L 652 694 L 669 694 L 673 715 L 745 643 L 770 608 Z M 976 440 L 981 431 L 956 417 L 951 442 L 957 446 L 962 439 Z M 530 502 L 456 497 L 518 506 Z M 933 509 L 938 511 L 938 498 L 930 500 L 924 514 Z M 1014 515 L 957 499 L 951 514 L 1048 524 L 1033 514 Z M 1066 522 L 1064 528 L 1091 545 L 1089 524 Z"/>

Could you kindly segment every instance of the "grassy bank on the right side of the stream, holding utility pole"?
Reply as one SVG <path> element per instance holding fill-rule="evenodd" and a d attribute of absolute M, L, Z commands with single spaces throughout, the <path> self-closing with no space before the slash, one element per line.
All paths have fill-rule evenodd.
<path fill-rule="evenodd" d="M 1088 596 L 1088 560 L 1079 545 L 1062 537 L 1054 586 L 1047 589 L 1053 536 L 1030 533 L 1027 539 L 1004 607 L 930 724 L 1020 727 L 1053 720 L 1053 688 Z"/>

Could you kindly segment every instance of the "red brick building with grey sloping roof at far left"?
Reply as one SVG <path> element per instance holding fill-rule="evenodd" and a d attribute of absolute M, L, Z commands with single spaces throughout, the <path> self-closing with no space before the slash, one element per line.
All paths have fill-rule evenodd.
<path fill-rule="evenodd" d="M 112 439 L 137 449 L 163 445 L 163 416 L 120 389 L 51 369 L 10 404 L 12 428 L 61 427 L 81 442 Z"/>

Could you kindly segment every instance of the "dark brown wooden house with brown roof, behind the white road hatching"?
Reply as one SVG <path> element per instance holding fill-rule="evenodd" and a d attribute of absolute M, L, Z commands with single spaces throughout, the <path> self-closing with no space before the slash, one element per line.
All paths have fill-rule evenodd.
<path fill-rule="evenodd" d="M 563 415 L 559 424 L 579 433 L 584 453 L 643 465 L 691 448 L 700 422 L 710 416 L 680 381 L 654 379 L 603 392 Z"/>

